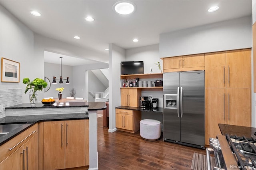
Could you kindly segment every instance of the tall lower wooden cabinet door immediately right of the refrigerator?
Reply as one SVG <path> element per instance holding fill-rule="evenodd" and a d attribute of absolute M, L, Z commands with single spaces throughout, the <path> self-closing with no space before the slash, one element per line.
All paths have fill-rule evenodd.
<path fill-rule="evenodd" d="M 205 89 L 205 144 L 220 133 L 218 124 L 226 124 L 226 88 Z"/>

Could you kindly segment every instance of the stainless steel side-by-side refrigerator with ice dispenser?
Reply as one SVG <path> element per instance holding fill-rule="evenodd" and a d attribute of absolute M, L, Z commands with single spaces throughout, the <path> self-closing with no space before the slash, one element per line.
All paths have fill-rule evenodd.
<path fill-rule="evenodd" d="M 164 141 L 204 148 L 204 71 L 163 74 Z"/>

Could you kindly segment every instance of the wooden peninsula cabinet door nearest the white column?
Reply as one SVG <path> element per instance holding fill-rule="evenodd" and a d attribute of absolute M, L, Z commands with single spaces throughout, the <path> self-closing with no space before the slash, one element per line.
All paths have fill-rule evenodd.
<path fill-rule="evenodd" d="M 65 168 L 85 166 L 85 120 L 65 121 Z"/>

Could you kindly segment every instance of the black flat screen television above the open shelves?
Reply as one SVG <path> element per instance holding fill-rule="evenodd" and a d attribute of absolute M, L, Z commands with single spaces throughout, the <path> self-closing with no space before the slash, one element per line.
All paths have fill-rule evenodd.
<path fill-rule="evenodd" d="M 121 75 L 126 74 L 144 74 L 143 61 L 122 61 Z"/>

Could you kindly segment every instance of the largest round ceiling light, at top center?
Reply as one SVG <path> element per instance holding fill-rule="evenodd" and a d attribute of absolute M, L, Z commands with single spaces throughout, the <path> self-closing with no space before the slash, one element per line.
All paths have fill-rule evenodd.
<path fill-rule="evenodd" d="M 124 0 L 124 1 L 116 2 L 113 5 L 113 9 L 118 14 L 127 15 L 127 14 L 131 14 L 132 12 L 135 11 L 136 5 L 132 2 Z"/>

